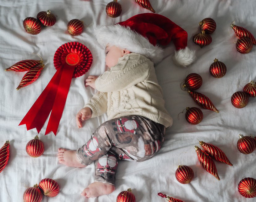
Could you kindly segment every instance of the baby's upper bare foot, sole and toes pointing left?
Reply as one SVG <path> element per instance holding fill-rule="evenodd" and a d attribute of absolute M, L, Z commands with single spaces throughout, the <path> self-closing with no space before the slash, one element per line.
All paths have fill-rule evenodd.
<path fill-rule="evenodd" d="M 70 167 L 86 167 L 78 161 L 75 150 L 59 148 L 58 152 L 58 159 L 60 163 Z"/>

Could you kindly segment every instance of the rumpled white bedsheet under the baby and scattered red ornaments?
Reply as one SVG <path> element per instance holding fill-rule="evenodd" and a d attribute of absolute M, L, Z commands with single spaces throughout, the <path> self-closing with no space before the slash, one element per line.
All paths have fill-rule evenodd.
<path fill-rule="evenodd" d="M 164 91 L 166 108 L 173 117 L 173 126 L 166 130 L 165 143 L 159 153 L 145 162 L 119 162 L 116 190 L 98 198 L 80 196 L 88 184 L 95 179 L 95 166 L 71 168 L 58 163 L 59 147 L 77 149 L 91 136 L 92 132 L 107 120 L 106 114 L 93 118 L 78 129 L 75 115 L 89 98 L 96 92 L 84 86 L 89 75 L 100 75 L 105 71 L 104 50 L 100 49 L 93 33 L 93 25 L 114 24 L 133 15 L 150 12 L 138 6 L 133 0 L 120 0 L 122 14 L 112 19 L 105 13 L 105 6 L 111 0 L 1 0 L 0 1 L 0 141 L 1 146 L 10 140 L 11 155 L 6 168 L 0 173 L 0 201 L 22 201 L 26 187 L 32 187 L 41 179 L 52 178 L 60 185 L 60 193 L 54 198 L 44 197 L 42 201 L 88 201 L 113 202 L 119 192 L 131 188 L 136 201 L 164 201 L 157 196 L 165 193 L 186 202 L 207 201 L 254 201 L 245 199 L 237 190 L 239 181 L 245 177 L 256 178 L 255 151 L 241 154 L 237 150 L 238 134 L 256 133 L 255 109 L 256 98 L 249 98 L 245 108 L 237 109 L 231 105 L 231 95 L 242 90 L 251 80 L 256 80 L 256 47 L 249 54 L 236 51 L 236 36 L 230 23 L 247 28 L 256 36 L 256 2 L 253 0 L 225 1 L 186 1 L 186 0 L 151 0 L 156 13 L 164 15 L 188 32 L 188 46 L 196 50 L 197 60 L 188 68 L 173 64 L 174 45 L 165 47 L 165 58 L 156 66 L 156 74 Z M 51 10 L 57 15 L 53 27 L 42 28 L 38 35 L 30 35 L 23 28 L 26 17 L 36 17 L 40 11 Z M 211 34 L 212 43 L 200 48 L 192 41 L 199 33 L 198 22 L 206 17 L 217 23 L 216 31 Z M 66 30 L 71 19 L 81 19 L 85 24 L 83 33 L 71 36 Z M 45 152 L 39 158 L 31 158 L 25 147 L 30 139 L 37 135 L 36 129 L 27 131 L 26 126 L 18 126 L 32 104 L 45 89 L 55 73 L 53 55 L 57 48 L 70 41 L 86 45 L 92 52 L 91 69 L 83 76 L 72 79 L 66 105 L 55 137 L 53 133 L 44 136 L 48 119 L 39 138 L 45 144 Z M 38 59 L 33 52 L 41 55 L 45 69 L 33 84 L 18 91 L 24 73 L 5 72 L 4 69 L 18 61 Z M 227 74 L 220 79 L 209 74 L 209 66 L 217 58 L 227 66 Z M 180 88 L 181 81 L 190 73 L 198 73 L 203 78 L 203 85 L 198 92 L 207 95 L 220 113 L 206 109 L 203 121 L 198 125 L 188 124 L 185 113 L 179 112 L 186 107 L 198 107 L 186 91 Z M 198 140 L 212 143 L 222 149 L 233 166 L 215 161 L 220 181 L 207 173 L 199 164 L 194 145 Z M 186 152 L 186 153 L 184 153 Z M 190 184 L 180 184 L 175 179 L 179 164 L 194 170 L 194 179 Z"/>

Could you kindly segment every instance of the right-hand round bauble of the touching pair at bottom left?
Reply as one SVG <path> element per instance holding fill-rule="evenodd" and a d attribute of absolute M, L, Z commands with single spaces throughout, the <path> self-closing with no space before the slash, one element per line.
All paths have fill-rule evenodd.
<path fill-rule="evenodd" d="M 57 196 L 60 192 L 60 186 L 59 184 L 49 178 L 42 179 L 38 186 L 44 191 L 45 196 L 48 197 L 54 197 Z"/>

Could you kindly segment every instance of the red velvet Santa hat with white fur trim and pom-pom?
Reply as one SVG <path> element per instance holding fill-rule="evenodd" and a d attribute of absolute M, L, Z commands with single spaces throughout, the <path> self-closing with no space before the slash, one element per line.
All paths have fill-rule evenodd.
<path fill-rule="evenodd" d="M 195 60 L 195 53 L 187 47 L 187 32 L 163 15 L 143 13 L 126 21 L 96 28 L 96 39 L 104 48 L 107 44 L 126 48 L 130 52 L 148 57 L 154 63 L 163 59 L 163 49 L 158 46 L 173 41 L 174 59 L 178 65 L 187 66 Z"/>

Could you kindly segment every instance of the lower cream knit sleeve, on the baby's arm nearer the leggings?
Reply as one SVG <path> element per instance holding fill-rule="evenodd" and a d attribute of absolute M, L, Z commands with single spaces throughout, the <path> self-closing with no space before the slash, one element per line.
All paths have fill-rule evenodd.
<path fill-rule="evenodd" d="M 107 101 L 107 93 L 98 91 L 84 107 L 89 107 L 92 110 L 92 118 L 94 118 L 107 112 Z"/>

